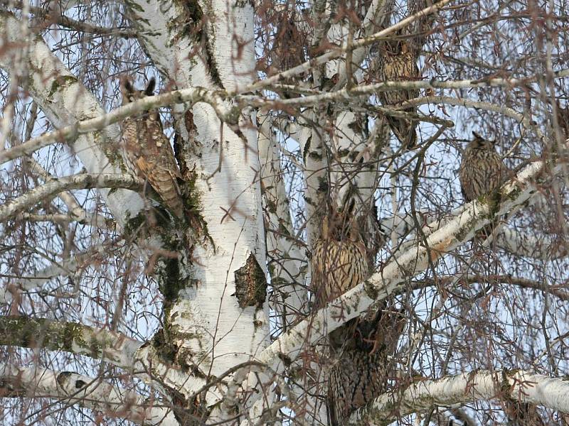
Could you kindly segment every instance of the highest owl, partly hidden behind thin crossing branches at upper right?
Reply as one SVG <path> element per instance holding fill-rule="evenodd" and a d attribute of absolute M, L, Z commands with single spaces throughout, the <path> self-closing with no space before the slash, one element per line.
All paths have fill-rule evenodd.
<path fill-rule="evenodd" d="M 386 41 L 381 51 L 380 80 L 391 82 L 419 80 L 420 72 L 416 59 L 405 41 Z M 385 107 L 397 105 L 418 96 L 419 89 L 378 92 L 378 98 Z M 415 108 L 404 109 L 403 111 L 415 113 Z M 403 143 L 403 146 L 410 149 L 417 146 L 416 121 L 389 115 L 385 116 L 385 119 L 387 119 L 391 131 Z"/>

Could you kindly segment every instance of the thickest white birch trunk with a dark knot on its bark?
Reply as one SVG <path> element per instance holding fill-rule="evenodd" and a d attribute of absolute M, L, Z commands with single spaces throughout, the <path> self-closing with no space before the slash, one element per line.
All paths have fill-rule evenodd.
<path fill-rule="evenodd" d="M 188 58 L 196 47 L 193 35 L 184 33 L 185 27 L 170 25 L 177 21 L 191 26 L 196 18 L 188 16 L 183 2 L 134 3 L 137 7 L 130 8 L 133 21 L 143 31 L 151 30 L 144 37 L 144 48 L 179 87 L 235 90 L 252 82 L 255 55 L 250 4 L 213 1 L 195 5 L 196 13 L 199 10 L 208 17 L 202 29 L 208 46 L 206 64 Z M 230 126 L 236 130 L 239 124 L 240 135 L 221 124 L 207 104 L 196 104 L 192 114 L 183 114 L 183 109 L 176 109 L 182 119 L 176 129 L 183 139 L 184 161 L 192 170 L 207 229 L 201 244 L 193 247 L 196 262 L 186 266 L 188 282 L 166 317 L 175 330 L 171 343 L 179 348 L 180 361 L 198 366 L 205 375 L 219 376 L 258 354 L 269 336 L 266 286 L 262 287 L 266 253 L 255 114 L 232 111 L 235 121 Z M 256 289 L 260 298 L 247 293 L 252 289 L 236 288 L 235 274 L 245 269 L 257 273 L 248 279 L 251 285 L 260 286 Z M 187 386 L 185 393 L 191 393 Z M 219 397 L 214 394 L 208 400 Z"/>

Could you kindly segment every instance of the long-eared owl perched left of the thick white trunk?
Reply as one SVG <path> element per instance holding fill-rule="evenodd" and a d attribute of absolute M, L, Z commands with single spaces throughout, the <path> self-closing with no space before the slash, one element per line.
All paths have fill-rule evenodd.
<path fill-rule="evenodd" d="M 144 90 L 135 90 L 127 78 L 121 82 L 122 104 L 154 94 L 156 80 L 151 78 Z M 181 218 L 184 204 L 178 179 L 181 179 L 174 151 L 162 130 L 158 111 L 144 111 L 122 122 L 124 159 L 132 171 L 148 180 L 168 209 Z"/>

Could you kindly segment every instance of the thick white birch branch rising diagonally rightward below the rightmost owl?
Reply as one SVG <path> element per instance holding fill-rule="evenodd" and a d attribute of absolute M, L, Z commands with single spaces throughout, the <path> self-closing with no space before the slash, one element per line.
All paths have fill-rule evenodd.
<path fill-rule="evenodd" d="M 501 187 L 501 202 L 492 206 L 488 199 L 475 200 L 466 204 L 462 213 L 449 220 L 444 226 L 428 236 L 427 246 L 413 244 L 409 249 L 395 253 L 393 261 L 383 266 L 365 283 L 357 285 L 348 293 L 329 302 L 313 317 L 299 322 L 294 328 L 283 334 L 260 354 L 260 361 L 272 368 L 282 368 L 281 361 L 289 364 L 302 351 L 304 345 L 312 345 L 321 337 L 321 331 L 332 332 L 342 324 L 358 317 L 376 300 L 384 300 L 388 295 L 403 290 L 406 280 L 425 271 L 430 263 L 435 263 L 445 253 L 456 249 L 474 236 L 475 231 L 489 224 L 494 217 L 499 217 L 521 206 L 536 190 L 532 180 L 538 178 L 545 163 L 530 163 L 516 178 Z M 553 168 L 553 173 L 560 173 L 560 168 Z"/>

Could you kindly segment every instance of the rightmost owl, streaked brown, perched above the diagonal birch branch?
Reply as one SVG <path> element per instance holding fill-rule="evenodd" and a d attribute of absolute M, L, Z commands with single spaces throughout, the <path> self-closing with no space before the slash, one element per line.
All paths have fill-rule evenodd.
<path fill-rule="evenodd" d="M 470 141 L 462 153 L 459 168 L 460 186 L 464 202 L 470 202 L 481 195 L 496 190 L 507 177 L 508 168 L 494 149 L 494 142 L 487 141 L 478 133 L 472 132 Z M 486 238 L 494 226 L 485 226 L 479 233 Z"/>

